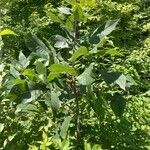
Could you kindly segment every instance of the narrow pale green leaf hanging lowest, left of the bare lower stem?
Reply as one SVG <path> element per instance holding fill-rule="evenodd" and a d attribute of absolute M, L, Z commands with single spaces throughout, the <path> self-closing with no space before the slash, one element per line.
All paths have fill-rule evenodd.
<path fill-rule="evenodd" d="M 68 128 L 69 128 L 69 125 L 70 125 L 70 121 L 71 121 L 71 117 L 68 116 L 64 119 L 64 122 L 62 123 L 61 130 L 60 130 L 60 136 L 63 139 L 65 139 L 66 136 L 67 136 L 67 131 L 68 131 Z"/>

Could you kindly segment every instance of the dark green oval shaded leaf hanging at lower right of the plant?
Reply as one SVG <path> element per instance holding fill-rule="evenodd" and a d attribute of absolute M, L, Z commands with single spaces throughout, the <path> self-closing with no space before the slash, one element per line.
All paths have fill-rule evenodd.
<path fill-rule="evenodd" d="M 126 100 L 119 94 L 115 94 L 114 96 L 110 96 L 109 98 L 111 100 L 111 109 L 116 116 L 121 117 L 126 107 Z"/>

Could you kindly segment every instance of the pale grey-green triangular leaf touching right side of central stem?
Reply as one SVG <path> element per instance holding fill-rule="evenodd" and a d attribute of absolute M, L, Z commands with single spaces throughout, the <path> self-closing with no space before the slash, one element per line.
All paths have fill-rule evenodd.
<path fill-rule="evenodd" d="M 93 69 L 93 65 L 91 64 L 88 68 L 85 69 L 85 71 L 81 75 L 77 77 L 79 84 L 91 85 L 94 82 L 94 79 L 91 76 L 92 69 Z"/>

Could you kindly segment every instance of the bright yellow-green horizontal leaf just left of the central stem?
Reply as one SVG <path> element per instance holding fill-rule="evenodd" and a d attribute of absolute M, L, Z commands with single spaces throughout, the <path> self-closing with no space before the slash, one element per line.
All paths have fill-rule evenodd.
<path fill-rule="evenodd" d="M 74 68 L 70 66 L 64 66 L 62 64 L 53 64 L 49 67 L 49 70 L 55 73 L 68 73 L 70 75 L 77 75 L 77 72 Z"/>

